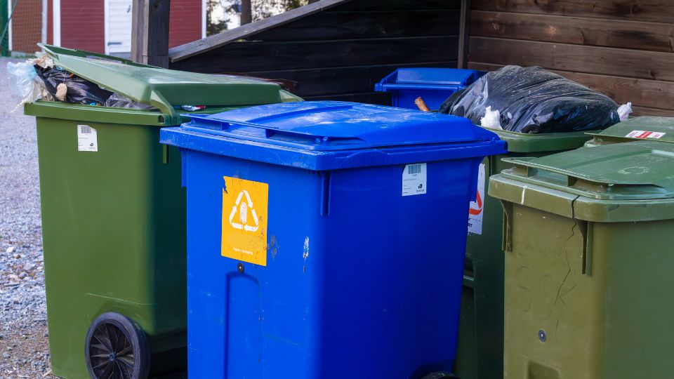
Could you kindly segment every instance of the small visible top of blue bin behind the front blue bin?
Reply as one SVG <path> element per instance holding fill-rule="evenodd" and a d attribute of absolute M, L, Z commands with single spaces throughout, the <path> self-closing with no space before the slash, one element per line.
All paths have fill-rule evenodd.
<path fill-rule="evenodd" d="M 475 69 L 399 68 L 375 84 L 374 90 L 391 93 L 394 107 L 418 110 L 414 100 L 421 97 L 428 108 L 438 109 L 452 93 L 484 74 Z"/>

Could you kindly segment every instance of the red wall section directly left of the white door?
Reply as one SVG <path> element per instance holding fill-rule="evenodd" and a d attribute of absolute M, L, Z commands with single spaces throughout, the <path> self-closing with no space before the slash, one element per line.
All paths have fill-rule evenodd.
<path fill-rule="evenodd" d="M 105 53 L 103 0 L 61 0 L 61 46 Z"/>

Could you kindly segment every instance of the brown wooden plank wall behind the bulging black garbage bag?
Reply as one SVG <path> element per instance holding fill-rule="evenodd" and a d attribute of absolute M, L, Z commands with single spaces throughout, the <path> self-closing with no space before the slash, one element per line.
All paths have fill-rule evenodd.
<path fill-rule="evenodd" d="M 468 61 L 542 66 L 674 117 L 674 1 L 473 0 Z"/>

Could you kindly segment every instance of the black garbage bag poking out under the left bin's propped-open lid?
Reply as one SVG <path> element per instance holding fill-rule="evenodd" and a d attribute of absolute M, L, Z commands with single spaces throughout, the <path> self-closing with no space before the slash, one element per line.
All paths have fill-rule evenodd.
<path fill-rule="evenodd" d="M 73 104 L 105 105 L 105 100 L 112 95 L 112 92 L 100 88 L 98 84 L 78 77 L 60 67 L 42 68 L 37 65 L 34 67 L 38 76 L 44 81 L 47 92 L 59 101 Z M 65 91 L 65 94 L 59 93 L 59 96 L 57 96 L 59 84 L 65 84 L 67 91 Z"/>

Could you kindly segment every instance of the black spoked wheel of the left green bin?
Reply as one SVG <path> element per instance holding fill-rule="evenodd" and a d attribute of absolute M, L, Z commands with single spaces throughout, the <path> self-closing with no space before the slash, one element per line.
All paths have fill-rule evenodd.
<path fill-rule="evenodd" d="M 93 379 L 145 379 L 150 345 L 143 329 L 128 317 L 107 312 L 86 332 L 84 359 Z"/>

